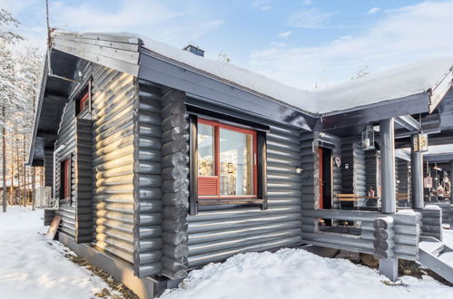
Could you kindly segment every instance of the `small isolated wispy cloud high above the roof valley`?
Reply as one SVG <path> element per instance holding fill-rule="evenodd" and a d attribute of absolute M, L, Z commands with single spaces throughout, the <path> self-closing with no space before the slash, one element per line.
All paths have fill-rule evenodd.
<path fill-rule="evenodd" d="M 316 7 L 304 9 L 292 14 L 288 20 L 288 25 L 300 28 L 322 28 L 328 24 L 332 15 Z"/>

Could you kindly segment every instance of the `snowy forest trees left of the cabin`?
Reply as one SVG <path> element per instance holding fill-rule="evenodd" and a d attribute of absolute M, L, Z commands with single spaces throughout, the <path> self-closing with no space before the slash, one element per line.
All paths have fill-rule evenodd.
<path fill-rule="evenodd" d="M 20 22 L 0 10 L 0 124 L 2 206 L 31 205 L 43 168 L 27 165 L 44 53 L 16 34 Z"/>

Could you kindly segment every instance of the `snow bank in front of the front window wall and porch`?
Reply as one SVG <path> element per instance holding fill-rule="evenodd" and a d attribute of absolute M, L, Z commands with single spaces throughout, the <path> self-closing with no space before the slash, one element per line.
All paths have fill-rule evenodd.
<path fill-rule="evenodd" d="M 401 277 L 405 285 L 385 285 L 387 278 L 349 260 L 315 256 L 302 249 L 232 256 L 222 264 L 192 271 L 172 298 L 453 298 L 453 288 L 429 276 Z"/>

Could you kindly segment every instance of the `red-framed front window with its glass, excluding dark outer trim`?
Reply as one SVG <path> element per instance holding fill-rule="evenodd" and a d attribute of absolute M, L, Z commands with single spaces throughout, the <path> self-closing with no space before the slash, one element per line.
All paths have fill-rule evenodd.
<path fill-rule="evenodd" d="M 256 131 L 198 121 L 199 197 L 256 197 Z"/>

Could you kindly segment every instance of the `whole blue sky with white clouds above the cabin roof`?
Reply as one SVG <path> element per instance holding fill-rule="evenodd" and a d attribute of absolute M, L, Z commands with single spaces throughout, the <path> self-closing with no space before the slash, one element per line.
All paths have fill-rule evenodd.
<path fill-rule="evenodd" d="M 29 43 L 45 42 L 44 0 L 0 0 Z M 63 30 L 130 32 L 313 89 L 432 56 L 453 56 L 453 1 L 50 0 Z"/>

